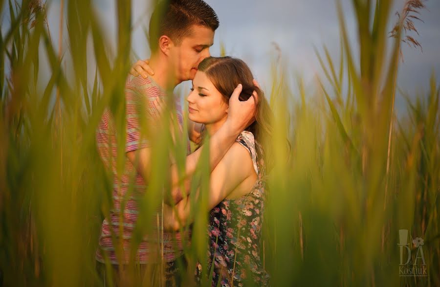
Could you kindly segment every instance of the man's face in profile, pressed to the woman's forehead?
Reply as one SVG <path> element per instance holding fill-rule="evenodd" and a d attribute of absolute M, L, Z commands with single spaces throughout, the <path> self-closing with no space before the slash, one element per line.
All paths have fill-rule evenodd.
<path fill-rule="evenodd" d="M 189 36 L 172 49 L 176 63 L 176 76 L 180 82 L 194 79 L 198 64 L 209 57 L 209 47 L 214 44 L 214 31 L 205 26 L 193 25 Z"/>

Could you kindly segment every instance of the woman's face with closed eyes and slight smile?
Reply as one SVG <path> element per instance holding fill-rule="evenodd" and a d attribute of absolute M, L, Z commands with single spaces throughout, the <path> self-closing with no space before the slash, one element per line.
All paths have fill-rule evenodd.
<path fill-rule="evenodd" d="M 197 71 L 186 100 L 189 119 L 196 123 L 213 124 L 227 117 L 228 104 L 204 72 Z"/>

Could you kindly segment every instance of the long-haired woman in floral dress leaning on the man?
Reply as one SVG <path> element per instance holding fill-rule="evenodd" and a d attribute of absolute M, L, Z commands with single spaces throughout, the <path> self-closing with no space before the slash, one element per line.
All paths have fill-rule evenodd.
<path fill-rule="evenodd" d="M 241 100 L 258 93 L 256 121 L 243 131 L 211 174 L 208 207 L 208 270 L 213 266 L 212 286 L 242 286 L 243 282 L 266 285 L 260 258 L 261 226 L 265 199 L 265 159 L 272 133 L 271 110 L 263 92 L 253 84 L 249 67 L 231 57 L 206 58 L 198 66 L 189 94 L 189 119 L 205 125 L 213 135 L 226 121 L 228 100 L 242 84 Z M 174 208 L 164 210 L 164 224 L 179 229 L 191 223 L 190 195 Z M 203 281 L 198 265 L 197 280 Z M 248 284 L 246 284 L 247 286 Z"/>

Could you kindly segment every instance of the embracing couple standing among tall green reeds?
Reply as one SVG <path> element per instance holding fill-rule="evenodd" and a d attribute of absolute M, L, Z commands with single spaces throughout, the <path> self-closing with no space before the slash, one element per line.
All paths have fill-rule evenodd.
<path fill-rule="evenodd" d="M 116 160 L 112 160 L 117 153 L 113 116 L 109 110 L 102 116 L 96 135 L 98 151 L 106 168 L 113 173 L 113 206 L 110 216 L 103 221 L 96 252 L 98 271 L 105 286 L 129 285 L 123 278 L 123 270 L 132 260 L 136 261 L 140 278 L 146 270 L 154 272 L 157 267 L 162 268 L 167 286 L 183 284 L 179 274 L 186 271 L 179 269 L 187 266 L 182 242 L 189 238 L 189 231 L 181 231 L 188 230 L 182 227 L 192 223 L 189 215 L 194 199 L 191 199 L 197 200 L 198 194 L 190 194 L 189 187 L 178 188 L 175 164 L 169 169 L 171 190 L 166 191 L 172 202 L 165 202 L 161 210 L 163 232 L 158 237 L 146 236 L 134 252 L 135 258 L 130 256 L 133 253 L 130 243 L 139 215 L 138 199 L 145 193 L 154 170 L 149 140 L 141 136 L 142 115 L 137 107 L 145 107 L 149 114 L 160 114 L 167 102 L 170 83 L 174 88 L 189 80 L 192 88 L 186 97 L 188 133 L 200 148 L 194 153 L 188 148 L 185 178 L 191 180 L 204 141 L 209 140 L 208 266 L 204 270 L 212 270 L 212 274 L 202 274 L 199 264 L 190 272 L 195 273 L 194 281 L 202 285 L 206 285 L 210 275 L 208 285 L 212 286 L 243 286 L 247 282 L 267 285 L 268 276 L 261 260 L 261 228 L 266 198 L 263 179 L 268 172 L 267 161 L 271 159 L 268 140 L 272 134 L 272 112 L 243 61 L 210 57 L 209 48 L 218 26 L 216 13 L 203 0 L 161 1 L 156 5 L 150 21 L 149 66 L 138 61 L 126 82 L 126 158 L 122 174 L 116 172 Z M 138 75 L 146 71 L 151 75 Z M 175 120 L 182 125 L 179 106 L 176 104 Z M 154 117 L 149 124 L 154 125 Z M 204 134 L 209 134 L 206 139 L 195 128 L 199 125 L 203 125 Z M 134 191 L 127 200 L 125 195 L 132 186 Z M 159 245 L 165 266 L 155 256 Z M 141 282 L 146 286 L 158 285 L 152 278 L 143 278 Z"/>

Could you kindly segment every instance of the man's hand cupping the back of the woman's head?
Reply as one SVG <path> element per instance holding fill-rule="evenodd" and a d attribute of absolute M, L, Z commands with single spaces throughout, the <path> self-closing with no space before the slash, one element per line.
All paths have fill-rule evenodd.
<path fill-rule="evenodd" d="M 254 80 L 253 83 L 259 87 L 256 80 Z M 229 99 L 228 118 L 226 120 L 226 122 L 239 133 L 244 131 L 244 129 L 255 121 L 255 111 L 258 103 L 258 94 L 256 91 L 253 92 L 253 96 L 249 97 L 247 101 L 240 101 L 239 96 L 242 89 L 242 84 L 239 84 L 232 92 Z"/>

